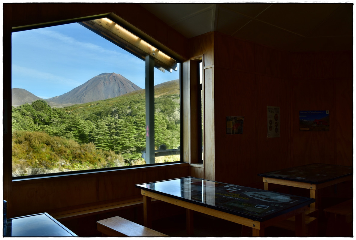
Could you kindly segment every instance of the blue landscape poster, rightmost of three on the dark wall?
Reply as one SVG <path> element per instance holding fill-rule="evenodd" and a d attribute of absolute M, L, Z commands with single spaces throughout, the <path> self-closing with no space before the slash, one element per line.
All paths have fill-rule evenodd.
<path fill-rule="evenodd" d="M 329 110 L 299 111 L 299 131 L 329 131 Z"/>

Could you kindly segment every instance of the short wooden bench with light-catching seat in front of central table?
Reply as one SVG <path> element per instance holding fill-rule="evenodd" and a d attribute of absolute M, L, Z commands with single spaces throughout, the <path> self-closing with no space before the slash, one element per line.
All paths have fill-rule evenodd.
<path fill-rule="evenodd" d="M 125 218 L 112 217 L 96 222 L 103 236 L 111 237 L 168 237 L 150 228 L 131 222 Z"/>

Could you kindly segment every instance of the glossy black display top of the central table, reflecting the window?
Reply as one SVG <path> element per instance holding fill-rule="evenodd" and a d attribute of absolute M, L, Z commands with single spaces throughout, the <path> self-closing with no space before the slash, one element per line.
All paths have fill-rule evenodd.
<path fill-rule="evenodd" d="M 195 177 L 137 184 L 136 187 L 259 222 L 314 202 L 312 198 Z"/>

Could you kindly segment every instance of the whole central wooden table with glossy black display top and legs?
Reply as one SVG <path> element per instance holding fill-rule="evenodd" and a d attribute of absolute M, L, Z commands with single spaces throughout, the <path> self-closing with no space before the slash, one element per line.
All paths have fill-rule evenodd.
<path fill-rule="evenodd" d="M 305 210 L 315 200 L 243 187 L 202 178 L 183 177 L 138 184 L 143 195 L 144 225 L 151 228 L 151 198 L 187 209 L 187 232 L 193 234 L 193 211 L 252 228 L 263 236 L 265 228 L 295 216 L 296 235 L 305 236 Z"/>

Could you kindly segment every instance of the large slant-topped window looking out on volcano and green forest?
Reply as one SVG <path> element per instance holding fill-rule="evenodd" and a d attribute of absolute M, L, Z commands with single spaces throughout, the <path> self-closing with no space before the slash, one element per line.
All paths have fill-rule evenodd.
<path fill-rule="evenodd" d="M 12 33 L 12 175 L 180 161 L 179 64 L 109 18 Z"/>

